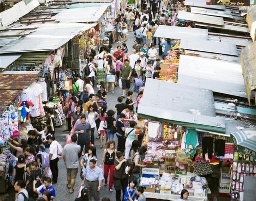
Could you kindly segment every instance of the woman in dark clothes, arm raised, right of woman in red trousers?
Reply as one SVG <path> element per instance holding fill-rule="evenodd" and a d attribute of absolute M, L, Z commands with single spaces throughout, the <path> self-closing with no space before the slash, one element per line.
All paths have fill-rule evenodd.
<path fill-rule="evenodd" d="M 124 198 L 125 189 L 129 183 L 129 175 L 127 174 L 130 170 L 130 163 L 124 159 L 124 154 L 121 152 L 116 153 L 116 160 L 114 161 L 114 187 L 116 190 L 116 201 L 121 201 Z M 121 191 L 123 196 L 121 199 Z"/>

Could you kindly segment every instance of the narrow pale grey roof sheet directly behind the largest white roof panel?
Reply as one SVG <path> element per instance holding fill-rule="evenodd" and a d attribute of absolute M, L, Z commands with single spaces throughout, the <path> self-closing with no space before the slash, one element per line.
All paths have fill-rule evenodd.
<path fill-rule="evenodd" d="M 180 42 L 180 48 L 238 56 L 236 44 L 227 42 L 204 41 L 200 39 L 182 40 Z"/>

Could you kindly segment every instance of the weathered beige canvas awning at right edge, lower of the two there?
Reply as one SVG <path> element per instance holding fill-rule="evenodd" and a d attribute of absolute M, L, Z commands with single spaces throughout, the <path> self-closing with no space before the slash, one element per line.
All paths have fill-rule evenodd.
<path fill-rule="evenodd" d="M 246 93 L 250 104 L 251 98 L 255 95 L 254 91 L 256 91 L 256 41 L 242 49 L 240 61 Z"/>

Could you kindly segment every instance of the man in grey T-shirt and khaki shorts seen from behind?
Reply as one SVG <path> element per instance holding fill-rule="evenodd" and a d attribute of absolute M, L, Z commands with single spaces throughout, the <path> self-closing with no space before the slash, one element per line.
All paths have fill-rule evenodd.
<path fill-rule="evenodd" d="M 76 183 L 76 175 L 79 167 L 78 153 L 80 153 L 81 147 L 76 144 L 76 135 L 72 135 L 71 140 L 72 143 L 64 146 L 62 155 L 67 169 L 67 187 L 70 189 L 70 193 L 74 193 L 74 185 Z"/>

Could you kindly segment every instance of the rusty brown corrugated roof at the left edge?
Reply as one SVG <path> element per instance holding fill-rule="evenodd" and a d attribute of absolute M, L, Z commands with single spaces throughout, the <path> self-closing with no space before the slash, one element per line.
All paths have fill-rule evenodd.
<path fill-rule="evenodd" d="M 28 88 L 39 76 L 39 72 L 22 74 L 0 74 L 0 105 L 9 106 L 22 90 Z M 1 111 L 1 110 L 0 110 Z"/>

